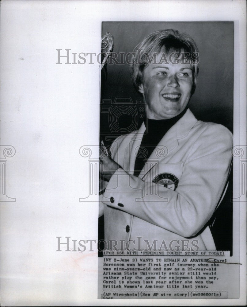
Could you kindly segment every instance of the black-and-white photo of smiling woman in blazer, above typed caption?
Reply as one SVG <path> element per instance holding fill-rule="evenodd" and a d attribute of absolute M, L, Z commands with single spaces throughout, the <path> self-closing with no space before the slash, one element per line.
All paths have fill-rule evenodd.
<path fill-rule="evenodd" d="M 142 235 L 157 239 L 157 246 L 193 238 L 197 250 L 230 251 L 230 191 L 223 211 L 220 204 L 232 182 L 233 22 L 102 26 L 103 33 L 116 33 L 101 82 L 102 148 L 122 134 L 112 142 L 111 157 L 102 150 L 107 245 Z"/>

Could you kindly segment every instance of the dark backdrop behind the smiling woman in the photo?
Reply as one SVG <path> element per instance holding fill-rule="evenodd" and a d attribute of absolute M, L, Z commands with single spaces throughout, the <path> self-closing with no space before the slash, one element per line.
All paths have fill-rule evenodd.
<path fill-rule="evenodd" d="M 102 22 L 102 35 L 108 31 L 112 34 L 113 52 L 117 54 L 132 52 L 147 34 L 160 29 L 175 29 L 187 33 L 199 49 L 198 84 L 188 104 L 192 113 L 198 120 L 220 123 L 233 132 L 234 23 Z M 120 62 L 120 56 L 116 60 Z M 101 73 L 103 109 L 100 114 L 100 137 L 106 145 L 110 145 L 116 136 L 139 128 L 145 111 L 143 113 L 143 109 L 140 109 L 142 97 L 131 83 L 130 65 L 114 62 L 110 64 L 108 60 L 105 68 L 107 72 L 102 69 Z M 211 231 L 218 250 L 232 251 L 232 176 L 230 177 L 228 191 L 216 212 Z M 99 221 L 100 237 L 103 222 L 102 218 Z"/>

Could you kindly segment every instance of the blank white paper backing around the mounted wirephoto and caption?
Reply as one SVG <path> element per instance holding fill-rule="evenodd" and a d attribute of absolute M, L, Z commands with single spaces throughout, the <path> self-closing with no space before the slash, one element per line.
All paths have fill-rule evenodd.
<path fill-rule="evenodd" d="M 79 148 L 98 144 L 100 102 L 98 65 L 55 64 L 56 49 L 100 52 L 102 21 L 224 20 L 239 21 L 239 56 L 245 59 L 245 14 L 245 1 L 1 2 L 1 145 L 16 149 L 7 159 L 6 188 L 16 202 L 1 202 L 2 306 L 112 304 L 97 300 L 97 252 L 56 252 L 56 236 L 97 239 L 98 204 L 78 201 L 88 192 L 88 160 Z M 245 117 L 241 131 L 238 124 L 239 114 L 246 114 L 245 63 L 238 75 L 240 111 L 234 76 L 236 145 L 246 142 Z M 245 213 L 240 218 L 244 252 Z M 245 289 L 242 267 L 240 278 Z M 244 293 L 241 298 L 236 304 Z M 232 300 L 114 301 L 150 304 Z"/>

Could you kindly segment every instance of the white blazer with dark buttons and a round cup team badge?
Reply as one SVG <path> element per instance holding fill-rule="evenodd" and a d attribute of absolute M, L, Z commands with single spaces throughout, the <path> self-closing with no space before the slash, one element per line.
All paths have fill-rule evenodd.
<path fill-rule="evenodd" d="M 112 158 L 121 168 L 100 196 L 105 241 L 112 240 L 119 249 L 146 249 L 156 240 L 156 249 L 163 244 L 168 250 L 215 250 L 207 222 L 226 189 L 231 132 L 219 124 L 197 121 L 188 109 L 135 177 L 135 158 L 145 130 L 143 123 L 112 144 Z"/>

